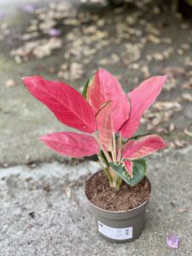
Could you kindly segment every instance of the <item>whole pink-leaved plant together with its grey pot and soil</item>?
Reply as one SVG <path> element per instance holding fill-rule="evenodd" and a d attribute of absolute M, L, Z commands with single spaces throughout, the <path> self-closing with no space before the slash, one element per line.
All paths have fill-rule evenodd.
<path fill-rule="evenodd" d="M 135 240 L 143 231 L 151 192 L 143 157 L 166 148 L 166 143 L 156 134 L 133 136 L 166 76 L 147 79 L 128 95 L 104 69 L 84 85 L 83 96 L 67 84 L 40 76 L 22 80 L 61 123 L 84 132 L 55 132 L 41 140 L 70 157 L 94 155 L 102 166 L 84 185 L 99 234 L 112 242 Z"/>

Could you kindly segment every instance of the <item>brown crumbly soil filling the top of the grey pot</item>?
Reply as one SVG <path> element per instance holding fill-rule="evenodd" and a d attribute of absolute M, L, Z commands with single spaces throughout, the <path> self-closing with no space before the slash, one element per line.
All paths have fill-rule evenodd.
<path fill-rule="evenodd" d="M 134 187 L 123 182 L 120 191 L 117 191 L 109 186 L 108 177 L 104 172 L 96 172 L 85 185 L 85 194 L 96 207 L 113 212 L 140 206 L 149 199 L 150 191 L 150 183 L 146 177 Z"/>

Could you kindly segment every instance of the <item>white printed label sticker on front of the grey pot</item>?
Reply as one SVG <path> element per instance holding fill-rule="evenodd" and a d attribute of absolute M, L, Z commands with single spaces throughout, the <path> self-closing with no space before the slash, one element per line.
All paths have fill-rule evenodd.
<path fill-rule="evenodd" d="M 112 239 L 125 240 L 132 238 L 132 227 L 125 229 L 115 229 L 108 227 L 107 225 L 102 224 L 100 221 L 98 221 L 98 230 L 102 233 L 102 235 L 108 236 Z"/>

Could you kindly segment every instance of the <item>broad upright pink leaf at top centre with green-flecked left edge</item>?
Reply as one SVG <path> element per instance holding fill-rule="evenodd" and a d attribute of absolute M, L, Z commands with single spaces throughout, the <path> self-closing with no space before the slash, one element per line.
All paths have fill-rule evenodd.
<path fill-rule="evenodd" d="M 114 132 L 119 131 L 129 117 L 130 103 L 118 80 L 100 68 L 88 84 L 87 97 L 95 113 L 104 103 L 113 102 L 112 128 Z"/>

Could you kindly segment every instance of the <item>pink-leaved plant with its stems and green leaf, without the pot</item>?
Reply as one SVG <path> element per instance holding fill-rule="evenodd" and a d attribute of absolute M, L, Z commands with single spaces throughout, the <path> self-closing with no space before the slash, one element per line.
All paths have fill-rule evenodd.
<path fill-rule="evenodd" d="M 22 79 L 32 96 L 43 102 L 61 123 L 84 132 L 55 132 L 41 140 L 70 157 L 97 154 L 110 186 L 118 190 L 123 180 L 131 186 L 141 182 L 146 173 L 143 157 L 166 148 L 159 135 L 133 137 L 143 112 L 160 94 L 165 80 L 166 76 L 152 77 L 125 95 L 117 79 L 100 68 L 84 85 L 82 96 L 58 81 L 40 76 Z"/>

